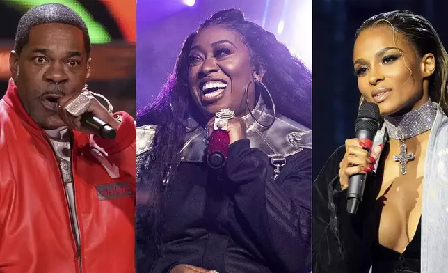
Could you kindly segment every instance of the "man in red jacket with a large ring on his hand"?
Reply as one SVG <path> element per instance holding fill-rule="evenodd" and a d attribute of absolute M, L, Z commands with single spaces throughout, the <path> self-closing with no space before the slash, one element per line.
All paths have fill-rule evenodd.
<path fill-rule="evenodd" d="M 17 26 L 0 100 L 0 272 L 135 272 L 136 127 L 85 88 L 89 54 L 86 24 L 65 6 Z M 86 112 L 115 139 L 81 125 Z"/>

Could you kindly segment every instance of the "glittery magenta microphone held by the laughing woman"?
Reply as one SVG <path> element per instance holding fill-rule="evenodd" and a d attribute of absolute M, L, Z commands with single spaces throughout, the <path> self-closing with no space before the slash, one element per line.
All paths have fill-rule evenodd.
<path fill-rule="evenodd" d="M 213 169 L 221 169 L 227 162 L 230 137 L 225 130 L 214 130 L 209 137 L 207 164 Z"/>

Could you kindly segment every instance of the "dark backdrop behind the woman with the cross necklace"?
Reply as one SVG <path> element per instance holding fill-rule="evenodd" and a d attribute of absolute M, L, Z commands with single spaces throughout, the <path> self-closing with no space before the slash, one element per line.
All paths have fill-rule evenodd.
<path fill-rule="evenodd" d="M 326 159 L 355 136 L 360 93 L 353 72 L 355 31 L 369 17 L 408 9 L 426 17 L 448 47 L 448 2 L 444 0 L 312 1 L 313 177 Z"/>

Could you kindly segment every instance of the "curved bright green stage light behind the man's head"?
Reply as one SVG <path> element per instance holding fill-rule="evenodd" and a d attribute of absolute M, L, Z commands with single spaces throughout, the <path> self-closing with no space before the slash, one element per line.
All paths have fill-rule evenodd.
<path fill-rule="evenodd" d="M 86 22 L 88 33 L 90 36 L 90 42 L 93 44 L 103 44 L 111 41 L 111 36 L 104 29 L 104 27 L 95 22 L 92 15 L 88 13 L 88 11 L 79 3 L 74 0 L 5 0 L 6 3 L 14 6 L 15 8 L 23 11 L 24 13 L 30 8 L 34 8 L 35 6 L 40 6 L 45 3 L 61 3 L 81 16 L 81 18 Z"/>

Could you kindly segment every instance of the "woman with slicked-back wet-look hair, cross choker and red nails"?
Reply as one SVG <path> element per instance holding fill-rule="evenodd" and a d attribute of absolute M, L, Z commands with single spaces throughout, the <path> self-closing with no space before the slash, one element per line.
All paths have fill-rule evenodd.
<path fill-rule="evenodd" d="M 445 47 L 424 17 L 381 13 L 358 29 L 353 68 L 361 104 L 378 105 L 383 124 L 371 154 L 348 139 L 314 182 L 313 272 L 447 272 Z M 365 173 L 363 200 L 349 214 L 349 177 Z"/>

